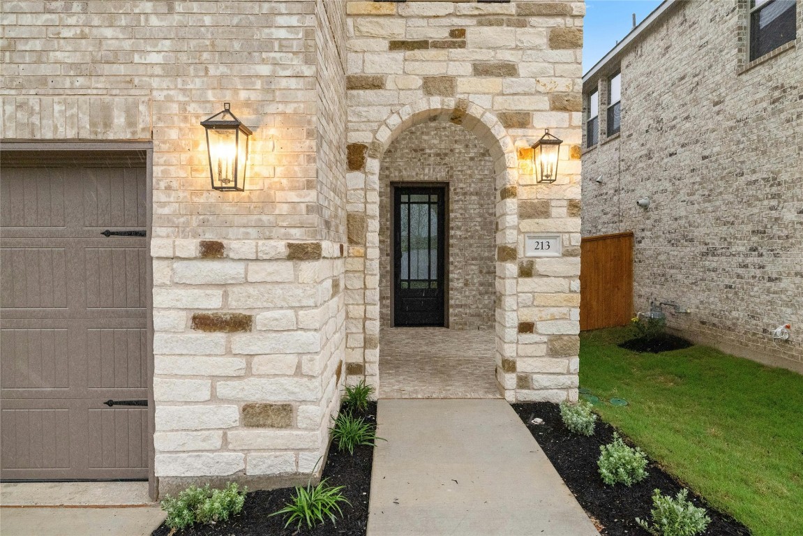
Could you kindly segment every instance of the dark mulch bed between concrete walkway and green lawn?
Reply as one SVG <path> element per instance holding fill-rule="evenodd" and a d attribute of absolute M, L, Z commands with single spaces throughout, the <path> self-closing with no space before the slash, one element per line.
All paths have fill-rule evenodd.
<path fill-rule="evenodd" d="M 650 536 L 650 533 L 638 526 L 635 518 L 650 518 L 653 489 L 660 489 L 664 495 L 675 497 L 686 487 L 660 468 L 654 460 L 650 460 L 647 465 L 649 476 L 638 484 L 630 488 L 622 484 L 607 486 L 599 476 L 597 458 L 600 455 L 600 445 L 613 440 L 615 428 L 597 421 L 593 436 L 577 436 L 569 432 L 560 420 L 560 409 L 556 404 L 518 403 L 513 404 L 513 409 L 527 424 L 532 436 L 544 449 L 549 461 L 577 497 L 577 501 L 596 520 L 597 529 L 603 536 Z M 531 424 L 532 417 L 540 417 L 544 419 L 544 423 Z M 621 433 L 619 435 L 622 436 Z M 626 440 L 626 443 L 630 441 Z M 695 505 L 708 510 L 711 524 L 705 531 L 705 536 L 750 534 L 747 527 L 712 509 L 702 497 L 691 490 L 689 497 Z"/>

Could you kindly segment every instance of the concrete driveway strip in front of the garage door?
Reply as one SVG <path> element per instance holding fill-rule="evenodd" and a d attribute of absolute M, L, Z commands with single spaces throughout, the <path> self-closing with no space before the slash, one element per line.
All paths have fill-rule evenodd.
<path fill-rule="evenodd" d="M 149 536 L 165 513 L 147 482 L 3 482 L 2 536 Z"/>

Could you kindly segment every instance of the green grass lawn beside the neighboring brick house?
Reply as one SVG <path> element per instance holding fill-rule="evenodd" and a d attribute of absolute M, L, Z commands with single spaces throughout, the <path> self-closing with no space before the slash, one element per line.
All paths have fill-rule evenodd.
<path fill-rule="evenodd" d="M 601 417 L 756 536 L 803 534 L 803 376 L 706 346 L 637 354 L 626 328 L 581 334 Z"/>

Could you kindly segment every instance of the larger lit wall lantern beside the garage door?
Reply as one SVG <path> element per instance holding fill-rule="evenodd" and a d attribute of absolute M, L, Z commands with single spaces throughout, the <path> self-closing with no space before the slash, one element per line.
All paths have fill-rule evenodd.
<path fill-rule="evenodd" d="M 224 103 L 223 111 L 201 121 L 201 126 L 206 129 L 212 187 L 215 190 L 243 191 L 251 129 L 243 125 L 229 108 L 230 104 Z"/>

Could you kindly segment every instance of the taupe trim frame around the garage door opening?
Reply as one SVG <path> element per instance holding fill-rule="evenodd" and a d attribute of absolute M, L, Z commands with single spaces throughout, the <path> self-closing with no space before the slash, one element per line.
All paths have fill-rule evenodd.
<path fill-rule="evenodd" d="M 153 501 L 158 497 L 159 481 L 153 467 L 153 434 L 156 423 L 156 404 L 153 400 L 153 260 L 150 256 L 150 242 L 153 236 L 153 141 L 42 141 L 42 140 L 0 140 L 0 151 L 36 153 L 59 152 L 79 153 L 84 151 L 145 151 L 145 248 L 150 262 L 145 270 L 145 288 L 149 289 L 145 302 L 145 324 L 147 333 L 148 354 L 148 493 Z"/>

